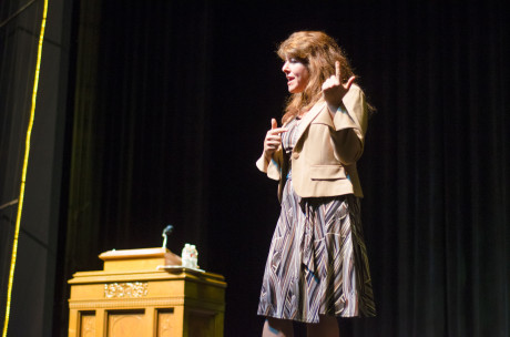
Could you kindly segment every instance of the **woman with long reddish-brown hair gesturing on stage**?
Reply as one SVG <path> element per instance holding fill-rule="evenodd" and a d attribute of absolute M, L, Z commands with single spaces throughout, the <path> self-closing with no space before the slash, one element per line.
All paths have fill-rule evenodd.
<path fill-rule="evenodd" d="M 272 120 L 257 167 L 278 180 L 282 213 L 264 273 L 263 336 L 338 336 L 336 317 L 375 316 L 356 161 L 368 104 L 335 40 L 293 33 L 278 49 L 290 98 Z"/>

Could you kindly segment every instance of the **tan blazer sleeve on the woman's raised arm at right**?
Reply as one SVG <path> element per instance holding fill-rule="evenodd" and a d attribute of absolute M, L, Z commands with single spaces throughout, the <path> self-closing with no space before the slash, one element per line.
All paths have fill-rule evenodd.
<path fill-rule="evenodd" d="M 351 165 L 361 156 L 368 124 L 368 109 L 361 89 L 353 84 L 335 113 L 332 137 L 344 165 Z"/>

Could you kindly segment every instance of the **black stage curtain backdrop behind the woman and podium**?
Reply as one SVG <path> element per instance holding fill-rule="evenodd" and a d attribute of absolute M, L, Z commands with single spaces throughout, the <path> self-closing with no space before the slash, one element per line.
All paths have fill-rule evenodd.
<path fill-rule="evenodd" d="M 254 163 L 286 96 L 274 51 L 317 29 L 378 110 L 359 163 L 378 317 L 343 336 L 510 335 L 508 20 L 496 1 L 427 2 L 76 4 L 61 279 L 172 223 L 171 249 L 196 243 L 226 277 L 225 336 L 259 336 L 278 204 Z"/>

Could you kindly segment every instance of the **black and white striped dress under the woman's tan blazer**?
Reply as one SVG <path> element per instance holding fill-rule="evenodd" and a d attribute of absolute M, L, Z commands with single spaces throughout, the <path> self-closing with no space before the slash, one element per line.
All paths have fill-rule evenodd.
<path fill-rule="evenodd" d="M 282 135 L 288 160 L 299 120 Z M 271 243 L 258 315 L 318 323 L 319 315 L 375 316 L 359 200 L 349 194 L 300 198 L 292 168 Z"/>

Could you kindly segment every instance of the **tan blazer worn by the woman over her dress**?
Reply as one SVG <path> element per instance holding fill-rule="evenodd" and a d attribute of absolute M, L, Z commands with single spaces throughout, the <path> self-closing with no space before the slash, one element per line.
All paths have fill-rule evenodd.
<path fill-rule="evenodd" d="M 290 155 L 294 190 L 300 197 L 355 194 L 363 196 L 356 161 L 361 156 L 367 131 L 367 104 L 361 89 L 353 84 L 332 119 L 326 102 L 319 100 L 298 125 L 296 146 Z M 258 159 L 258 170 L 279 181 L 278 197 L 288 165 L 279 146 L 267 162 Z"/>

